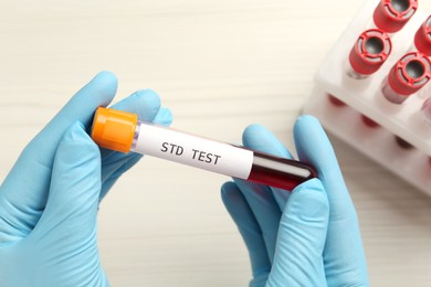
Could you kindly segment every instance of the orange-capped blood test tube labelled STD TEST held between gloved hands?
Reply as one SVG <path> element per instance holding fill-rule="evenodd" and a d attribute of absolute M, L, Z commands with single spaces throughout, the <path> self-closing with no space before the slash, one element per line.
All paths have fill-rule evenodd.
<path fill-rule="evenodd" d="M 97 108 L 92 138 L 103 148 L 154 156 L 288 191 L 316 177 L 306 163 L 144 123 L 136 114 L 111 108 Z"/>

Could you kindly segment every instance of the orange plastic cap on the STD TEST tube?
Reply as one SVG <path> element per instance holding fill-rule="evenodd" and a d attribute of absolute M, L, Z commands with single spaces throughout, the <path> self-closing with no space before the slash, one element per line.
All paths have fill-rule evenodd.
<path fill-rule="evenodd" d="M 92 138 L 103 148 L 128 152 L 137 123 L 135 114 L 99 107 L 94 116 Z"/>

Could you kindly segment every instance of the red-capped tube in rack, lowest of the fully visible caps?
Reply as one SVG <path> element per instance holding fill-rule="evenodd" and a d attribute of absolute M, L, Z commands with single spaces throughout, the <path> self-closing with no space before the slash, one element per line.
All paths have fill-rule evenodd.
<path fill-rule="evenodd" d="M 430 77 L 430 60 L 420 52 L 411 52 L 392 66 L 382 83 L 381 92 L 389 102 L 401 104 L 425 86 Z"/>

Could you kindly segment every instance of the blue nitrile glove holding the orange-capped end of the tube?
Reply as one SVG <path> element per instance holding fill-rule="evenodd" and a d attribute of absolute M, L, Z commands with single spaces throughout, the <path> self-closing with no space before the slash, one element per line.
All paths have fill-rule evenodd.
<path fill-rule="evenodd" d="M 97 209 L 118 177 L 140 158 L 99 150 L 88 130 L 107 106 L 116 77 L 102 72 L 25 147 L 0 187 L 0 286 L 107 286 L 97 248 Z M 159 97 L 140 91 L 114 105 L 169 125 Z"/>

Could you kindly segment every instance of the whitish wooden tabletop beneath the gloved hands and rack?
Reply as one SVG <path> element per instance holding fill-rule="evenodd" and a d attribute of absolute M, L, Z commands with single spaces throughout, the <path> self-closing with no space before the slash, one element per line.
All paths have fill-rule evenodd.
<path fill-rule="evenodd" d="M 357 0 L 0 0 L 0 180 L 95 73 L 118 97 L 150 87 L 176 128 L 240 142 L 261 123 L 294 149 L 313 75 Z M 420 1 L 431 11 L 431 2 Z M 431 286 L 431 199 L 333 140 L 374 286 Z M 245 286 L 245 247 L 224 211 L 227 178 L 146 158 L 99 212 L 114 286 Z M 137 188 L 138 187 L 138 188 Z"/>

